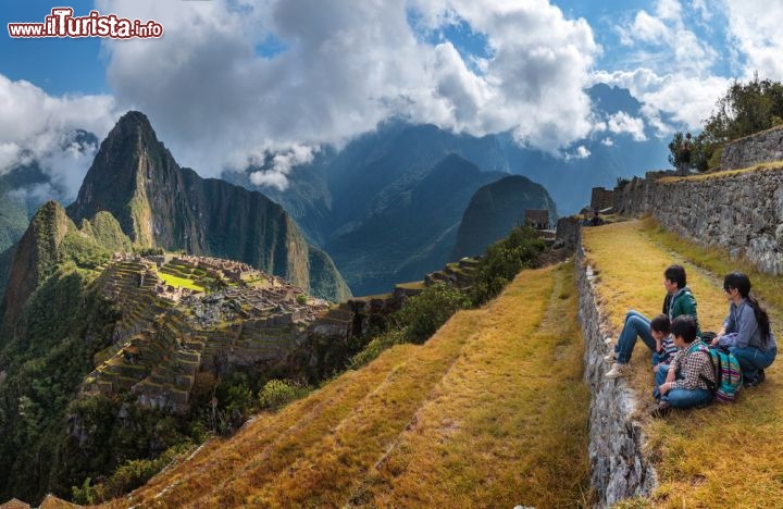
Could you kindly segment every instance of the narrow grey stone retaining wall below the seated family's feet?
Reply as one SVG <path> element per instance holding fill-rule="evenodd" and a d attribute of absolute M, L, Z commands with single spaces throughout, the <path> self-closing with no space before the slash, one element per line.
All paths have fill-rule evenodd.
<path fill-rule="evenodd" d="M 584 266 L 581 249 L 576 258 L 580 322 L 585 342 L 585 382 L 593 399 L 589 409 L 591 483 L 598 507 L 610 507 L 624 498 L 647 497 L 656 485 L 656 473 L 642 448 L 645 436 L 634 419 L 636 399 L 622 378 L 604 376 L 609 364 L 604 338 L 610 331 L 601 315 L 591 268 Z"/>

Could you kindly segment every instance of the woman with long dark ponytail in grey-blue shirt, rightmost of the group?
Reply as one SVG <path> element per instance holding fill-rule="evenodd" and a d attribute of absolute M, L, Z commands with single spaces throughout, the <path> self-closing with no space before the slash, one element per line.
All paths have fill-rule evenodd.
<path fill-rule="evenodd" d="M 758 385 L 765 380 L 765 368 L 769 368 L 778 355 L 769 315 L 750 295 L 747 275 L 741 272 L 726 275 L 723 291 L 730 302 L 729 316 L 712 345 L 728 347 L 739 361 L 744 383 Z"/>

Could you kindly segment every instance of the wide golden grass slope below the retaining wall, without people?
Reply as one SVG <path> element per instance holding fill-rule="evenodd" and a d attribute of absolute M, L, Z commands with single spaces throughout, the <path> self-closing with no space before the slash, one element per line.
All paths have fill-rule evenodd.
<path fill-rule="evenodd" d="M 582 355 L 573 266 L 523 271 L 424 345 L 258 417 L 113 506 L 585 504 Z"/>

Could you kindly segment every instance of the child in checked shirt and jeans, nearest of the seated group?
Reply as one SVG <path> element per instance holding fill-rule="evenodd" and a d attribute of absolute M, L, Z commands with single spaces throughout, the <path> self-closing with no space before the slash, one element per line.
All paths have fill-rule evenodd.
<path fill-rule="evenodd" d="M 652 410 L 654 418 L 667 415 L 672 408 L 698 407 L 712 400 L 709 387 L 714 386 L 716 375 L 709 348 L 696 336 L 697 331 L 693 316 L 684 314 L 672 320 L 671 334 L 680 351 L 669 365 L 666 382 L 657 387 L 661 396 Z"/>

